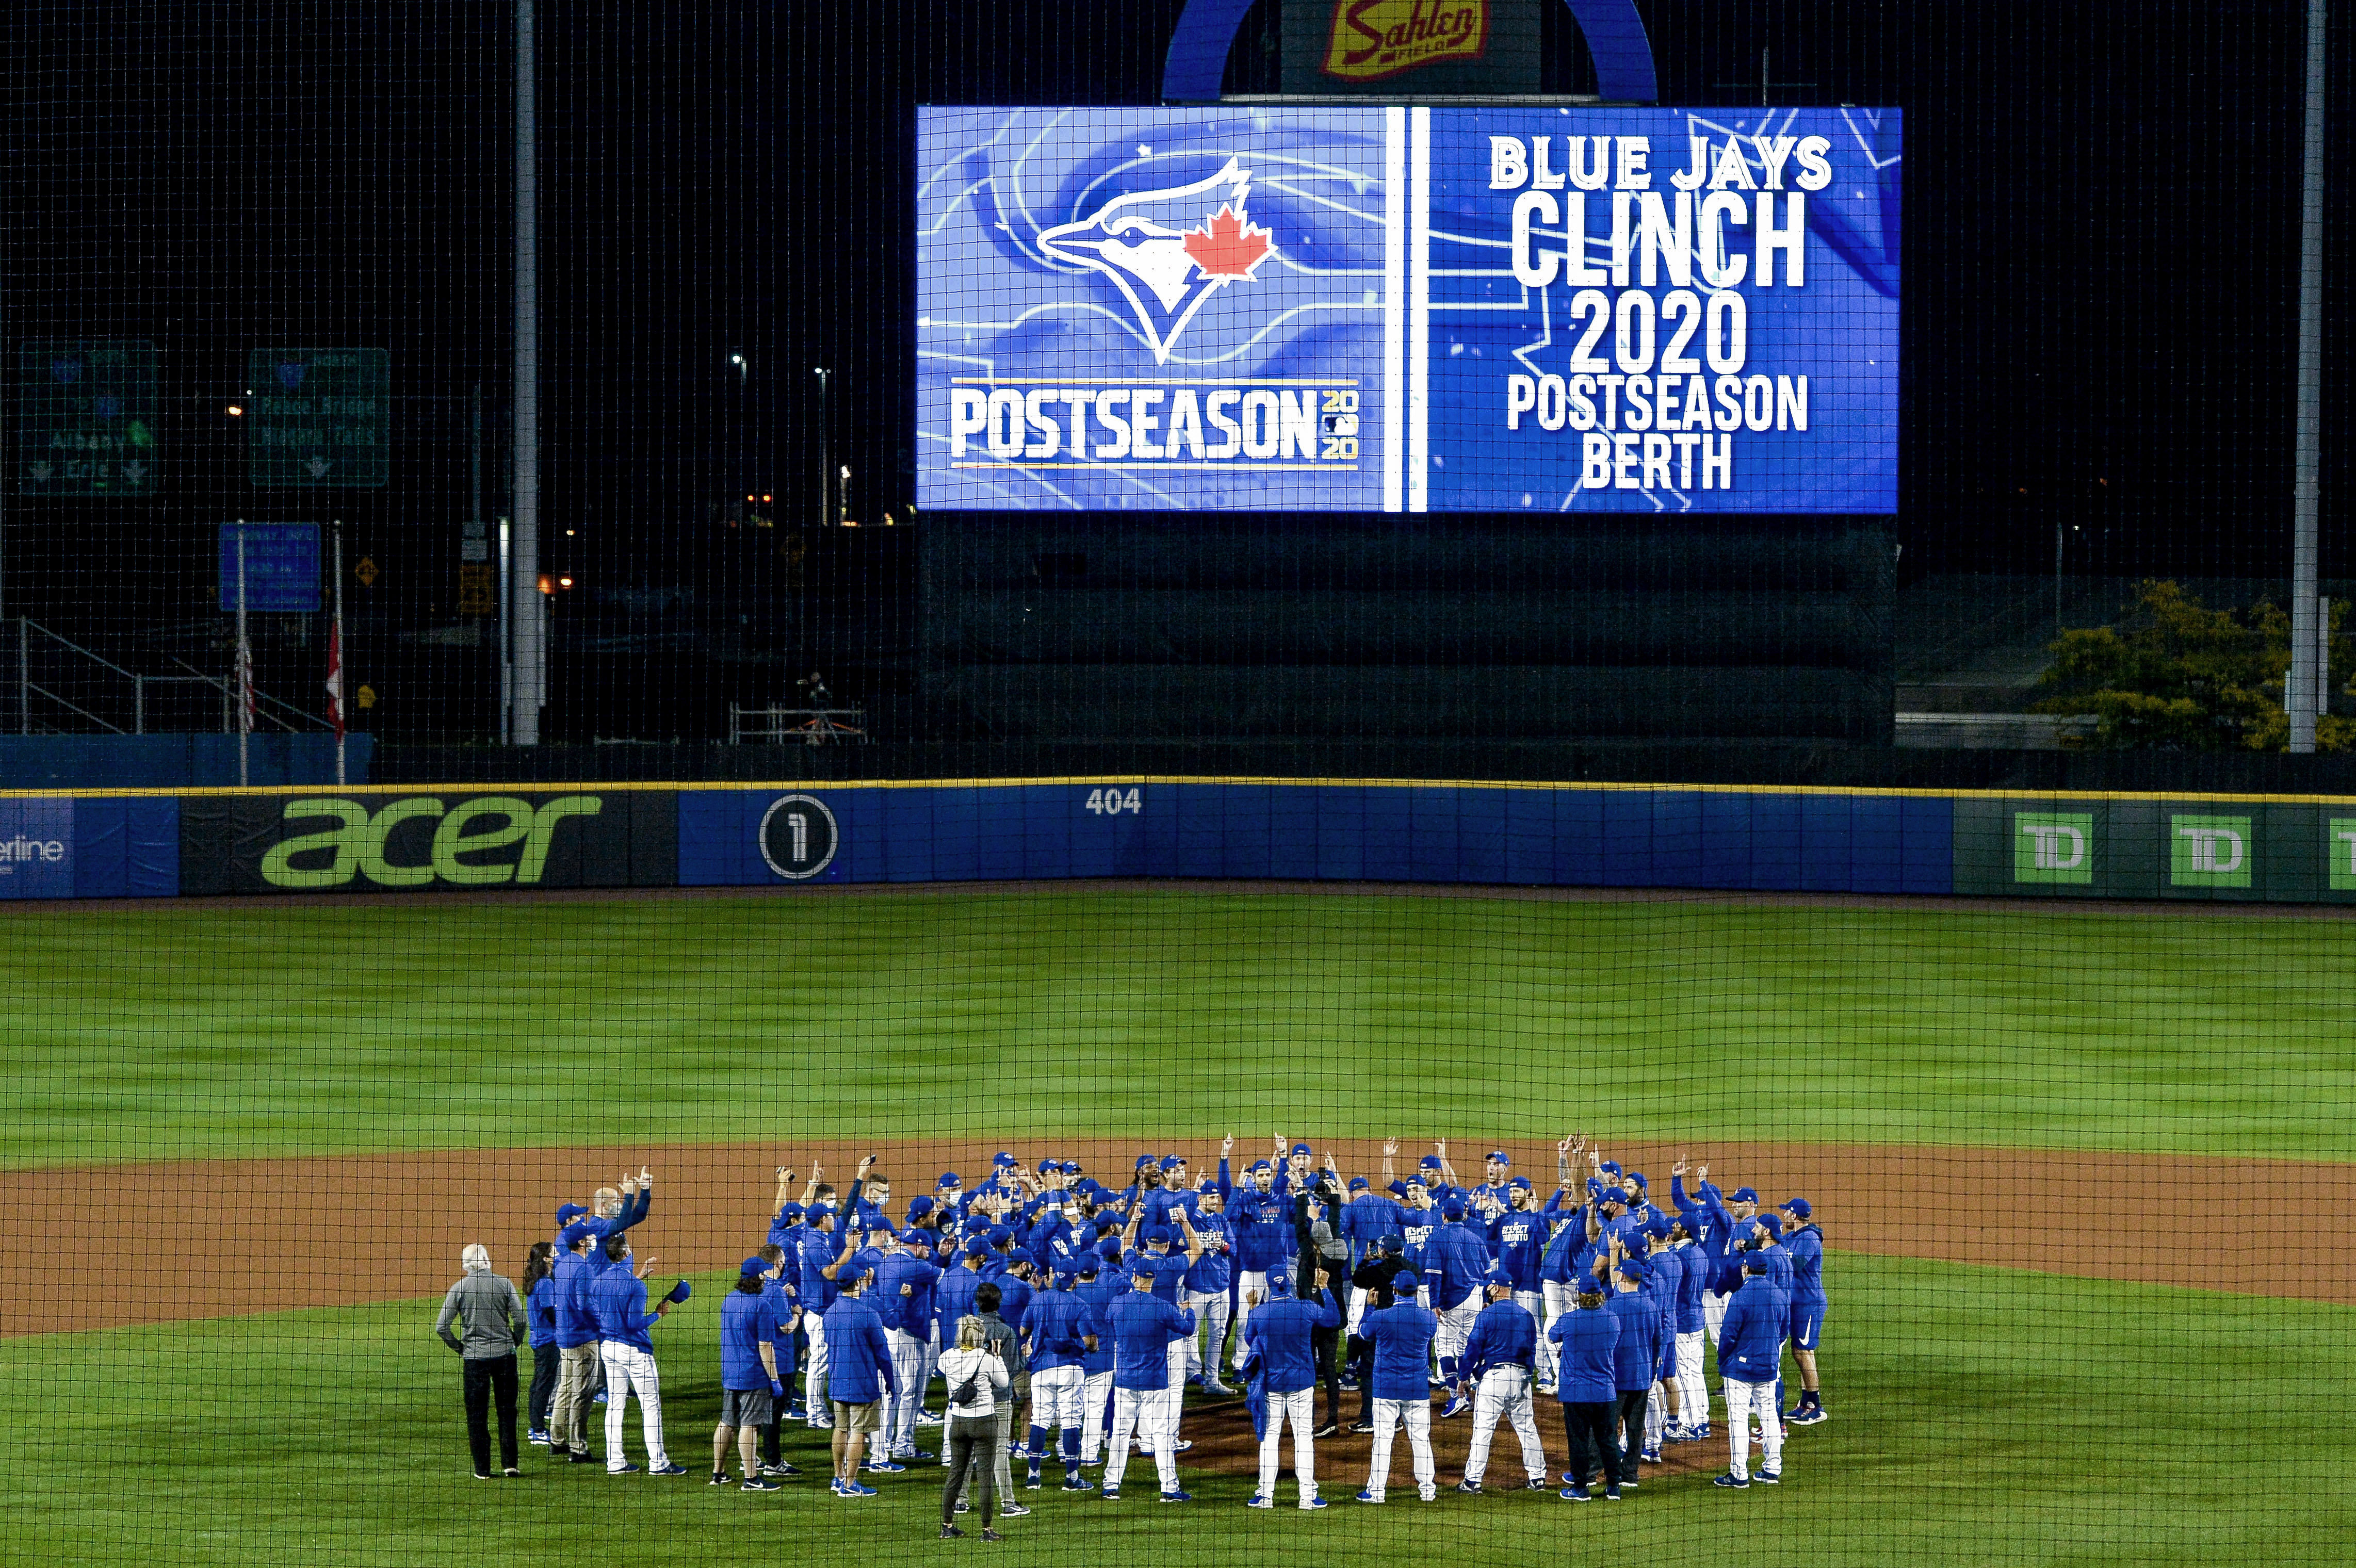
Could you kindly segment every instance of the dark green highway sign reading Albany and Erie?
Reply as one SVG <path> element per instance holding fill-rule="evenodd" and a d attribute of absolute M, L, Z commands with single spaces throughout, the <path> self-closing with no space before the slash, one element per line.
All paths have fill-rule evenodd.
<path fill-rule="evenodd" d="M 155 344 L 16 351 L 16 494 L 155 494 Z"/>

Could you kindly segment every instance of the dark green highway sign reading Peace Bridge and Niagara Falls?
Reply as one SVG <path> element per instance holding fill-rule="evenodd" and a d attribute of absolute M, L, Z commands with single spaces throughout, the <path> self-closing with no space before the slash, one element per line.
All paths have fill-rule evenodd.
<path fill-rule="evenodd" d="M 375 490 L 391 466 L 384 348 L 245 356 L 245 480 L 264 490 Z"/>

